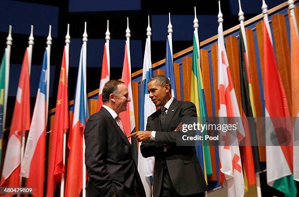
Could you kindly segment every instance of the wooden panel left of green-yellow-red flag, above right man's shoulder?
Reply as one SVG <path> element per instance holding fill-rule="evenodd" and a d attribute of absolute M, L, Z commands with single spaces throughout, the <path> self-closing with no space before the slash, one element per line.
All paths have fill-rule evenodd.
<path fill-rule="evenodd" d="M 191 74 L 192 74 L 192 57 L 187 56 L 182 60 L 183 79 L 184 79 L 184 101 L 190 101 Z"/>

